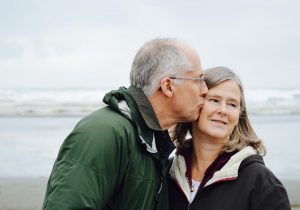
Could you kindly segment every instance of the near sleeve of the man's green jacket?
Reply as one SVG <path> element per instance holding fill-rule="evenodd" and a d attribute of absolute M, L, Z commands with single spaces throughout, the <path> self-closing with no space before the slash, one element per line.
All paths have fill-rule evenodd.
<path fill-rule="evenodd" d="M 128 134 L 102 124 L 75 129 L 64 141 L 48 181 L 45 210 L 103 209 L 128 161 Z"/>

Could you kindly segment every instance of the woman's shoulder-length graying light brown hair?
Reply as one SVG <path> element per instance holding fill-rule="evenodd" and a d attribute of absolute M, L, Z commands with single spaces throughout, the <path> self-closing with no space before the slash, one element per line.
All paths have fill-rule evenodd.
<path fill-rule="evenodd" d="M 233 129 L 229 136 L 229 141 L 224 145 L 223 152 L 232 152 L 235 150 L 241 150 L 246 146 L 252 146 L 259 154 L 264 155 L 266 149 L 261 141 L 254 132 L 246 109 L 244 89 L 240 78 L 226 67 L 215 67 L 207 69 L 204 72 L 205 82 L 208 90 L 219 85 L 225 81 L 234 81 L 240 88 L 241 91 L 241 104 L 240 104 L 240 116 L 238 124 Z M 174 132 L 173 139 L 177 141 L 178 149 L 185 147 L 184 141 L 187 132 L 191 132 L 192 123 L 179 123 L 177 124 Z"/>

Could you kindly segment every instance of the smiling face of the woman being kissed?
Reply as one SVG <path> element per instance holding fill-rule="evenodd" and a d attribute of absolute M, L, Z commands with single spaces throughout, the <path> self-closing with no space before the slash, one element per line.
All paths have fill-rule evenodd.
<path fill-rule="evenodd" d="M 208 90 L 198 120 L 201 135 L 227 142 L 240 115 L 241 91 L 231 80 Z"/>

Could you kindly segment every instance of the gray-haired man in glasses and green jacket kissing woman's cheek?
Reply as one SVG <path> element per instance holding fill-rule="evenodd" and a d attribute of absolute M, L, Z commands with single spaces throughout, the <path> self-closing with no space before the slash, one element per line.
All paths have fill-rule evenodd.
<path fill-rule="evenodd" d="M 200 59 L 181 41 L 154 39 L 137 52 L 130 82 L 65 139 L 43 209 L 168 209 L 167 129 L 199 116 L 207 93 Z"/>

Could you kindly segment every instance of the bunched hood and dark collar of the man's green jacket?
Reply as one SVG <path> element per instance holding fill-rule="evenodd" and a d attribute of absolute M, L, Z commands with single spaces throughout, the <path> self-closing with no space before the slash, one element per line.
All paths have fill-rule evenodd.
<path fill-rule="evenodd" d="M 142 90 L 120 87 L 107 93 L 103 102 L 129 119 L 137 128 L 140 140 L 148 152 L 157 153 L 153 130 L 161 130 L 153 108 Z M 145 110 L 147 110 L 145 112 Z M 149 126 L 150 125 L 150 126 Z M 151 129 L 149 129 L 149 127 Z"/>

